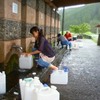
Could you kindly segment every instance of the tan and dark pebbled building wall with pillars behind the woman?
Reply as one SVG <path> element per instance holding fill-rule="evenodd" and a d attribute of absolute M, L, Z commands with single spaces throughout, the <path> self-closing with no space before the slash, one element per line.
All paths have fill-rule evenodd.
<path fill-rule="evenodd" d="M 18 6 L 17 13 L 13 4 Z M 0 63 L 14 44 L 29 50 L 35 41 L 29 32 L 33 25 L 42 27 L 50 41 L 59 30 L 59 15 L 43 0 L 0 0 Z"/>

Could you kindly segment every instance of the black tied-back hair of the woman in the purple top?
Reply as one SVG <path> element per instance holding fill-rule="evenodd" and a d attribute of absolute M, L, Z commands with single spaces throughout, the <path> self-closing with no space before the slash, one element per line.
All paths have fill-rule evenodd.
<path fill-rule="evenodd" d="M 33 32 L 37 32 L 37 31 L 38 31 L 39 35 L 38 35 L 38 40 L 36 40 L 36 42 L 38 42 L 38 44 L 40 45 L 41 38 L 44 37 L 42 28 L 39 28 L 38 26 L 33 26 L 30 29 L 30 33 L 31 34 L 33 34 Z"/>

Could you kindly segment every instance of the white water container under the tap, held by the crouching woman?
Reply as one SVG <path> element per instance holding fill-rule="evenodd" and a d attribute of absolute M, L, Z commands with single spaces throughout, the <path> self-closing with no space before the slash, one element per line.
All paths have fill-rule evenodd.
<path fill-rule="evenodd" d="M 19 58 L 19 67 L 20 69 L 31 69 L 33 67 L 32 55 L 21 55 Z"/>

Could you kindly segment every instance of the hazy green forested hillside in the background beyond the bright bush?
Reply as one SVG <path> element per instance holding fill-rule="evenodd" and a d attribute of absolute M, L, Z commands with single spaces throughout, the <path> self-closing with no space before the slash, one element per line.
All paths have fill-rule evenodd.
<path fill-rule="evenodd" d="M 59 10 L 62 20 L 62 10 Z M 61 21 L 62 22 L 62 21 Z M 80 8 L 70 8 L 65 10 L 64 30 L 69 30 L 72 25 L 88 23 L 91 31 L 96 33 L 96 25 L 100 24 L 100 3 L 88 4 Z M 62 23 L 61 23 L 62 24 Z M 76 27 L 75 31 L 78 31 Z M 73 30 L 72 30 L 73 31 Z"/>

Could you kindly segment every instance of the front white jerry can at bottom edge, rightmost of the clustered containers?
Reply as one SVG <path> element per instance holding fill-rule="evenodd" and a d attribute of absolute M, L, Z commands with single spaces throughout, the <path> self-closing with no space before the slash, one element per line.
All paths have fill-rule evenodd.
<path fill-rule="evenodd" d="M 44 87 L 37 93 L 37 100 L 60 100 L 60 93 L 55 86 Z"/>

